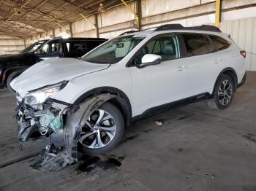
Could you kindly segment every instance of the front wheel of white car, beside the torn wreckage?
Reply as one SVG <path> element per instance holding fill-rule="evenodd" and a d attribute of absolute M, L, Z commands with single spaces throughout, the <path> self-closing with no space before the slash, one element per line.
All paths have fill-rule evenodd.
<path fill-rule="evenodd" d="M 102 120 L 100 120 L 99 126 L 97 126 L 95 124 L 97 124 L 97 121 L 99 120 L 100 111 L 105 112 L 104 114 L 105 117 L 101 118 Z M 89 126 L 91 127 L 89 128 Z M 105 128 L 105 129 L 111 128 L 110 130 L 112 130 L 115 127 L 116 127 L 115 131 L 104 131 L 100 129 L 100 128 Z M 97 131 L 96 133 L 93 133 L 95 130 L 94 128 L 99 128 L 99 129 L 96 129 L 99 131 Z M 88 136 L 90 133 L 91 133 L 91 136 Z M 111 133 L 111 135 L 113 136 L 112 139 L 110 138 L 112 136 L 109 133 Z M 119 142 L 123 138 L 123 135 L 124 135 L 124 117 L 122 116 L 121 112 L 116 108 L 116 106 L 113 106 L 113 104 L 110 104 L 107 102 L 105 104 L 102 104 L 102 106 L 99 106 L 99 108 L 96 109 L 93 114 L 91 114 L 91 116 L 86 122 L 86 125 L 82 128 L 80 139 L 78 141 L 78 150 L 80 152 L 83 152 L 89 155 L 103 154 L 105 152 L 109 152 L 110 150 L 116 148 L 116 146 L 119 144 Z M 101 142 L 100 144 L 98 144 L 98 140 L 100 140 L 99 141 Z M 105 144 L 105 145 L 102 146 L 102 144 Z"/>

